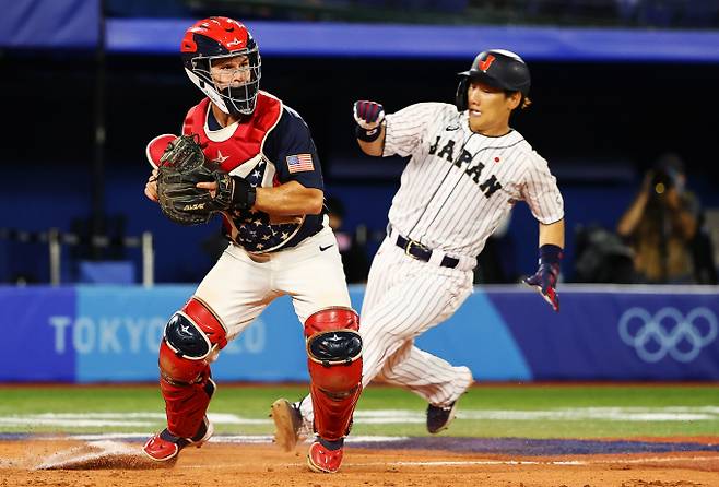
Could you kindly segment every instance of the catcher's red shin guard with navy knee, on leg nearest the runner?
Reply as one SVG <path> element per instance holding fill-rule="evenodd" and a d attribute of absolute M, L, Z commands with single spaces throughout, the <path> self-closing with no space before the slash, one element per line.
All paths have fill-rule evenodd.
<path fill-rule="evenodd" d="M 315 431 L 323 439 L 344 438 L 362 392 L 360 317 L 350 308 L 328 308 L 307 318 L 310 394 Z"/>

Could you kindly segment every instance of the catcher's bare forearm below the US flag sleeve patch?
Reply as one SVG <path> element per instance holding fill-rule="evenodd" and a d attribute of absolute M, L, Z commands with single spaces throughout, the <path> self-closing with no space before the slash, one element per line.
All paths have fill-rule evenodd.
<path fill-rule="evenodd" d="M 317 215 L 322 212 L 323 192 L 290 181 L 274 188 L 258 188 L 255 210 L 270 215 Z"/>

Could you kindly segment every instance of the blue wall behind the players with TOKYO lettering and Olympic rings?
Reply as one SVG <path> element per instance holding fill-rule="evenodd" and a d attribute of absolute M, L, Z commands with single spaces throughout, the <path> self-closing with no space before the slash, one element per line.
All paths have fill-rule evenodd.
<path fill-rule="evenodd" d="M 157 379 L 167 318 L 192 286 L 2 287 L 0 381 Z M 364 287 L 353 287 L 360 309 Z M 554 313 L 531 289 L 478 288 L 423 349 L 479 381 L 719 380 L 719 288 L 577 286 Z M 302 326 L 273 302 L 212 366 L 217 380 L 307 381 Z"/>

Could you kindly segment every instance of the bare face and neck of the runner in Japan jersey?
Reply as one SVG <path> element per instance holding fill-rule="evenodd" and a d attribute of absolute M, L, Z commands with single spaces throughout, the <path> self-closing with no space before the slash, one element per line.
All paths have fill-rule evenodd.
<path fill-rule="evenodd" d="M 507 95 L 504 90 L 472 81 L 467 95 L 472 132 L 498 136 L 509 131 L 509 115 L 519 105 L 519 93 Z"/>

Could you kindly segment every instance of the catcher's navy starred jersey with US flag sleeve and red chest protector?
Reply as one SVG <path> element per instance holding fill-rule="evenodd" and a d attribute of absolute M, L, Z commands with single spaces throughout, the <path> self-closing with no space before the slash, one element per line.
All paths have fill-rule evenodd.
<path fill-rule="evenodd" d="M 297 181 L 322 190 L 322 174 L 309 128 L 292 108 L 259 92 L 248 119 L 221 127 L 209 98 L 190 108 L 182 133 L 196 133 L 205 157 L 254 188 Z M 276 218 L 258 210 L 224 213 L 227 236 L 248 252 L 264 253 L 297 245 L 322 228 L 321 215 Z"/>

